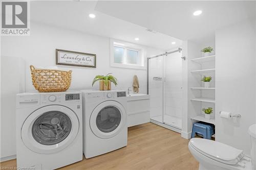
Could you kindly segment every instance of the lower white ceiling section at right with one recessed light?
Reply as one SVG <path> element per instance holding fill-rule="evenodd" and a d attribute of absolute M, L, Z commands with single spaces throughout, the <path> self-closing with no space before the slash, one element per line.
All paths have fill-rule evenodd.
<path fill-rule="evenodd" d="M 98 1 L 95 10 L 182 40 L 203 42 L 215 30 L 255 16 L 254 1 Z M 194 16 L 193 12 L 202 10 Z"/>

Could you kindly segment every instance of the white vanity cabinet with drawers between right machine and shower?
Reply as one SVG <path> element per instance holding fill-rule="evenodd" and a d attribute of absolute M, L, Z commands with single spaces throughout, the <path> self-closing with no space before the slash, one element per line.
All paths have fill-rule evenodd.
<path fill-rule="evenodd" d="M 127 126 L 150 122 L 150 95 L 131 94 L 127 96 Z"/>

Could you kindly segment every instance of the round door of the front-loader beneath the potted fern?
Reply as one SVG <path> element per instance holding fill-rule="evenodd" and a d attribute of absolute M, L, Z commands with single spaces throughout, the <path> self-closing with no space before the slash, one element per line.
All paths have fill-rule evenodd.
<path fill-rule="evenodd" d="M 123 128 L 127 128 L 124 107 L 116 101 L 102 102 L 91 114 L 90 127 L 100 138 L 116 136 Z"/>

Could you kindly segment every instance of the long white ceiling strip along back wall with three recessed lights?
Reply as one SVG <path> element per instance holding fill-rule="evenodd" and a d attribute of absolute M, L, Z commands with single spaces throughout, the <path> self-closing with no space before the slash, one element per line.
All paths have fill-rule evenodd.
<path fill-rule="evenodd" d="M 145 31 L 134 23 L 94 11 L 97 1 L 31 1 L 30 19 L 56 27 L 152 46 L 162 50 L 182 41 L 161 33 Z M 94 13 L 96 17 L 88 15 Z M 138 37 L 139 41 L 134 38 Z M 172 44 L 175 41 L 176 44 Z"/>

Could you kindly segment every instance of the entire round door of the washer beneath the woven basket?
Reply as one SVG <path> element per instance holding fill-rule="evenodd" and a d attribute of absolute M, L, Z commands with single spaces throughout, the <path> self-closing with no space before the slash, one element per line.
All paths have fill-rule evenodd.
<path fill-rule="evenodd" d="M 51 105 L 35 110 L 25 120 L 22 140 L 33 152 L 50 154 L 58 152 L 76 138 L 79 120 L 71 109 Z"/>

